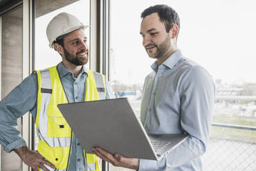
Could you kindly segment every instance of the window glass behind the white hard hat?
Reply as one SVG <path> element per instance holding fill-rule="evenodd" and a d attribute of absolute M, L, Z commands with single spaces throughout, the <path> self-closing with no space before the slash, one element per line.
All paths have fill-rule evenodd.
<path fill-rule="evenodd" d="M 48 23 L 61 12 L 68 12 L 77 17 L 84 25 L 89 25 L 90 2 L 81 1 L 36 1 L 37 17 L 35 19 L 35 70 L 56 66 L 62 61 L 60 54 L 48 45 L 46 28 Z M 89 38 L 89 29 L 85 30 Z M 88 39 L 89 42 L 90 39 Z M 36 132 L 36 131 L 35 131 Z M 38 139 L 35 133 L 35 149 Z"/>

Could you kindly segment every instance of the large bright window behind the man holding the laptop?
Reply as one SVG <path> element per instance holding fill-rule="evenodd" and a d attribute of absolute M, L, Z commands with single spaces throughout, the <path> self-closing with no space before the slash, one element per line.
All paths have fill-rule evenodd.
<path fill-rule="evenodd" d="M 216 84 L 216 124 L 204 155 L 205 170 L 255 169 L 256 131 L 246 129 L 256 126 L 255 1 L 112 0 L 111 85 L 117 97 L 130 99 L 138 117 L 144 79 L 154 62 L 142 46 L 140 13 L 156 4 L 178 12 L 178 48 L 208 70 Z"/>

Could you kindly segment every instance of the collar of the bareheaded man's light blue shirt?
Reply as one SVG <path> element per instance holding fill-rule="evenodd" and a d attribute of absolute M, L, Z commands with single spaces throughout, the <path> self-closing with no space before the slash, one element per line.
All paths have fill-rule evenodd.
<path fill-rule="evenodd" d="M 181 50 L 176 50 L 170 57 L 168 57 L 161 65 L 166 66 L 167 68 L 172 69 L 176 63 L 183 57 Z M 154 61 L 151 65 L 152 70 L 156 71 L 158 70 L 157 62 Z"/>

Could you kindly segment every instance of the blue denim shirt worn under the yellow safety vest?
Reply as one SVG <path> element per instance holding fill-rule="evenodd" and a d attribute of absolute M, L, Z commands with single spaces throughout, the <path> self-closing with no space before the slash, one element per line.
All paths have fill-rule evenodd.
<path fill-rule="evenodd" d="M 57 65 L 57 70 L 60 74 L 68 102 L 84 101 L 87 78 L 86 67 L 82 68 L 82 72 L 77 78 L 74 78 L 73 73 L 68 71 L 62 63 Z M 0 143 L 6 152 L 26 146 L 26 142 L 16 129 L 17 119 L 28 111 L 30 111 L 34 119 L 36 118 L 37 89 L 37 77 L 35 74 L 31 74 L 0 102 Z M 106 92 L 107 99 L 114 98 L 108 81 L 106 83 Z M 85 170 L 84 167 L 83 149 L 74 136 L 69 170 L 82 171 Z"/>

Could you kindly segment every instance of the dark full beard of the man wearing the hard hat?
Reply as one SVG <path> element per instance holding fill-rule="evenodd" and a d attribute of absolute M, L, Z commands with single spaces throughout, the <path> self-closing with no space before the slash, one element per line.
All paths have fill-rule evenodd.
<path fill-rule="evenodd" d="M 83 66 L 88 61 L 88 51 L 86 52 L 87 57 L 78 57 L 78 54 L 84 53 L 86 50 L 81 50 L 80 52 L 77 52 L 75 55 L 70 54 L 66 48 L 64 48 L 64 55 L 67 61 L 70 63 L 73 63 L 75 66 Z"/>

